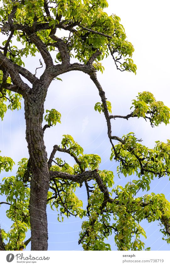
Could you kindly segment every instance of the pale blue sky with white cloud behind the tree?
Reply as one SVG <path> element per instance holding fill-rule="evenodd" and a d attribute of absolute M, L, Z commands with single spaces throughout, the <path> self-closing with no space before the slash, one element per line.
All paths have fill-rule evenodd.
<path fill-rule="evenodd" d="M 116 14 L 130 41 L 134 45 L 133 60 L 137 65 L 137 74 L 116 70 L 114 62 L 109 56 L 103 60 L 105 71 L 98 73 L 98 79 L 106 93 L 107 100 L 112 103 L 112 114 L 127 115 L 130 113 L 131 101 L 138 92 L 150 91 L 156 100 L 163 101 L 170 107 L 169 92 L 169 3 L 168 1 L 111 1 L 108 0 L 108 14 Z M 39 67 L 39 55 L 26 59 L 26 66 L 35 73 Z M 39 70 L 38 74 L 41 74 Z M 110 161 L 111 146 L 107 137 L 107 127 L 104 115 L 95 112 L 94 105 L 100 102 L 100 97 L 92 81 L 84 73 L 73 71 L 60 76 L 63 81 L 53 81 L 47 94 L 45 109 L 55 108 L 62 114 L 61 124 L 47 129 L 45 145 L 50 154 L 54 144 L 60 144 L 63 134 L 70 134 L 84 149 L 84 153 L 96 153 L 101 156 L 100 169 L 112 170 L 115 185 L 125 185 L 129 178 L 118 178 L 117 164 Z M 143 139 L 143 144 L 154 147 L 156 140 L 166 142 L 170 133 L 170 126 L 161 124 L 151 128 L 144 119 L 133 118 L 112 121 L 112 134 L 121 137 L 123 134 L 134 132 L 137 138 Z M 25 140 L 24 110 L 6 113 L 0 122 L 0 150 L 1 155 L 11 157 L 15 161 L 12 174 L 17 170 L 17 162 L 28 158 Z M 116 143 L 116 142 L 115 142 Z M 56 154 L 57 155 L 57 154 Z M 58 156 L 61 156 L 59 154 Z M 72 158 L 63 157 L 69 164 L 74 164 Z M 0 176 L 0 180 L 6 174 Z M 149 193 L 163 193 L 170 201 L 168 177 L 156 179 L 151 183 Z M 144 193 L 144 192 L 143 192 Z M 143 194 L 141 194 L 143 195 Z M 77 196 L 87 204 L 85 188 L 77 191 Z M 140 196 L 140 194 L 139 194 Z M 1 228 L 9 229 L 10 222 L 5 217 L 7 206 L 1 206 Z M 70 217 L 63 223 L 57 221 L 56 212 L 47 208 L 49 250 L 82 250 L 78 245 L 82 220 Z M 162 240 L 162 234 L 157 222 L 142 222 L 147 239 L 145 247 L 151 250 L 169 250 L 169 246 Z M 28 232 L 28 237 L 29 236 Z M 114 236 L 108 239 L 112 250 L 117 250 Z M 30 249 L 30 245 L 27 250 Z"/>

